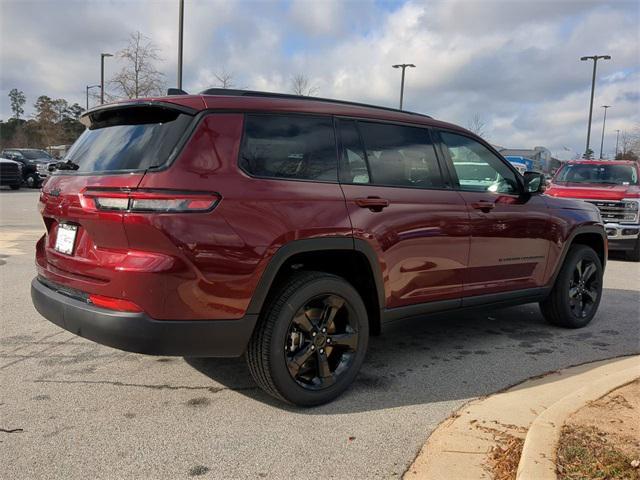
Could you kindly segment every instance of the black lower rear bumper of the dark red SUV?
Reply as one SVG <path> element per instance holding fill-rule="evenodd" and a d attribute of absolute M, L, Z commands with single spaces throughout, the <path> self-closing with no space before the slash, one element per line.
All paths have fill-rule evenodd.
<path fill-rule="evenodd" d="M 81 337 L 128 352 L 185 357 L 239 357 L 257 315 L 238 320 L 154 320 L 144 313 L 98 308 L 60 293 L 37 278 L 31 282 L 36 310 Z"/>

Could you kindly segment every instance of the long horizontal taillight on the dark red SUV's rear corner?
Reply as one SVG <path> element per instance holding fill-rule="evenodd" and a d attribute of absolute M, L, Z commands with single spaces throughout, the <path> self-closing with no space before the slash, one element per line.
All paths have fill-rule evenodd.
<path fill-rule="evenodd" d="M 220 201 L 220 195 L 171 190 L 92 190 L 81 194 L 83 208 L 129 212 L 208 212 Z"/>

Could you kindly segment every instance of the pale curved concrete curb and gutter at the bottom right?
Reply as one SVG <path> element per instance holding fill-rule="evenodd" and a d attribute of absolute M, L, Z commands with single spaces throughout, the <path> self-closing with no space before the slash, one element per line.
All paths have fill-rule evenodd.
<path fill-rule="evenodd" d="M 566 417 L 636 377 L 640 355 L 568 367 L 473 399 L 431 433 L 404 480 L 488 479 L 487 462 L 505 438 L 520 439 L 523 447 L 527 442 L 518 464 L 519 480 L 555 480 L 555 454 Z M 562 405 L 566 408 L 561 411 Z M 549 409 L 552 412 L 543 416 Z M 536 421 L 540 429 L 532 427 Z"/>

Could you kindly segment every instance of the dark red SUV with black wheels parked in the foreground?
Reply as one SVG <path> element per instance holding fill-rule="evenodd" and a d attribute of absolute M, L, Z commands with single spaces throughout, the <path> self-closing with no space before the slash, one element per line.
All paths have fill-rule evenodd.
<path fill-rule="evenodd" d="M 403 317 L 541 302 L 586 325 L 607 238 L 463 128 L 415 113 L 207 90 L 107 105 L 42 189 L 31 295 L 123 350 L 246 354 L 298 405 L 356 376 Z"/>

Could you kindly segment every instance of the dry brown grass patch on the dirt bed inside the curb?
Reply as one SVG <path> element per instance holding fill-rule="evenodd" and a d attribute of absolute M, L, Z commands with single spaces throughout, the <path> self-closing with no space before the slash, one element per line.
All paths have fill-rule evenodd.
<path fill-rule="evenodd" d="M 558 479 L 640 480 L 640 469 L 631 465 L 634 458 L 625 455 L 614 443 L 595 427 L 565 425 L 558 447 Z"/>

